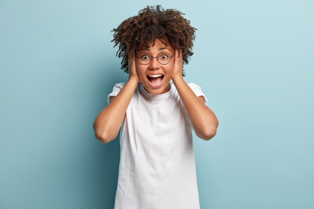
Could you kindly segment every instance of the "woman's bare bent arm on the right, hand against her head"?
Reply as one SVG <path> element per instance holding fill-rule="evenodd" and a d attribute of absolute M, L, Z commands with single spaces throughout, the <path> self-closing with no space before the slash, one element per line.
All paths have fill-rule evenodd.
<path fill-rule="evenodd" d="M 172 80 L 189 115 L 196 135 L 204 140 L 213 138 L 216 135 L 218 120 L 214 112 L 205 105 L 204 98 L 202 96 L 197 97 L 184 81 L 182 76 L 182 53 L 178 57 L 178 50 L 176 50 Z"/>

